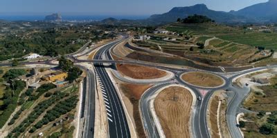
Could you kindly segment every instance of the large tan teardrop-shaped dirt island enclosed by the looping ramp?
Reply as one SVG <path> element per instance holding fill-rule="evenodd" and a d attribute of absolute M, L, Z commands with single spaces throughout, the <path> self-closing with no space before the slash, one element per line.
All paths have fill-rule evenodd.
<path fill-rule="evenodd" d="M 162 90 L 154 108 L 166 137 L 190 137 L 190 108 L 193 96 L 185 88 L 172 86 Z"/>

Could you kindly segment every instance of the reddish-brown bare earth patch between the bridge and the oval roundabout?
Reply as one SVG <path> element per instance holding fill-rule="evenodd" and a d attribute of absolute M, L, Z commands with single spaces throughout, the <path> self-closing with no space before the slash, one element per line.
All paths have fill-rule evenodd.
<path fill-rule="evenodd" d="M 117 64 L 118 71 L 133 79 L 156 79 L 166 76 L 166 72 L 157 68 L 136 66 L 131 64 Z"/>

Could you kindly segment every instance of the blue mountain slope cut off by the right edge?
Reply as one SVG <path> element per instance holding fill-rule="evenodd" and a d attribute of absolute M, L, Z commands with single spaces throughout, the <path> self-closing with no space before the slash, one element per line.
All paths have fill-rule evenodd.
<path fill-rule="evenodd" d="M 269 0 L 266 3 L 258 3 L 231 14 L 256 19 L 257 21 L 277 21 L 277 0 Z"/>

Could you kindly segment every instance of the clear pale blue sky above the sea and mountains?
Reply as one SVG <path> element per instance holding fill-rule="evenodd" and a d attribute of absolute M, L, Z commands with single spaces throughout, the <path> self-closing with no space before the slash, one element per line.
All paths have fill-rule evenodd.
<path fill-rule="evenodd" d="M 150 15 L 173 7 L 205 3 L 211 10 L 229 12 L 267 0 L 0 0 L 0 14 Z"/>

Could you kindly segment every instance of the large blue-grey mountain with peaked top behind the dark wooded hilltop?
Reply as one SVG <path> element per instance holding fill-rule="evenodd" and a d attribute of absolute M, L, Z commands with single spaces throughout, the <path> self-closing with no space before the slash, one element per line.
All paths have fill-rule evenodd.
<path fill-rule="evenodd" d="M 205 15 L 206 17 L 209 17 L 219 23 L 244 22 L 248 20 L 244 17 L 231 14 L 229 12 L 210 10 L 205 4 L 172 8 L 172 10 L 169 12 L 163 14 L 154 14 L 146 20 L 152 23 L 170 23 L 177 21 L 178 18 L 184 19 L 193 14 Z"/>

